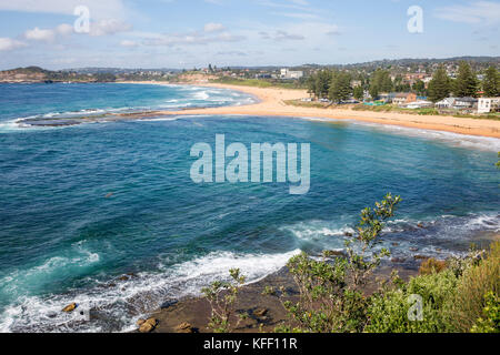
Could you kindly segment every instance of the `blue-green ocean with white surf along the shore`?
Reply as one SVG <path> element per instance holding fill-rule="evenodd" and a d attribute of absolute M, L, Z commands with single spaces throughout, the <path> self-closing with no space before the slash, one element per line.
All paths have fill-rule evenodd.
<path fill-rule="evenodd" d="M 70 126 L 20 119 L 238 105 L 202 87 L 0 84 L 0 331 L 127 332 L 241 268 L 249 281 L 306 251 L 343 247 L 360 211 L 403 202 L 392 257 L 463 254 L 500 232 L 500 140 L 307 118 L 159 116 Z M 196 184 L 190 149 L 310 143 L 311 185 Z M 423 227 L 422 227 L 423 226 Z M 90 320 L 61 310 L 77 302 Z"/>

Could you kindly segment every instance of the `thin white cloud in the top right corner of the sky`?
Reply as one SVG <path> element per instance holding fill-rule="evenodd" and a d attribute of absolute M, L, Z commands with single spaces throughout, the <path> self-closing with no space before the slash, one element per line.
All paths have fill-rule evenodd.
<path fill-rule="evenodd" d="M 476 1 L 467 6 L 450 6 L 437 9 L 434 16 L 454 22 L 494 24 L 500 22 L 500 3 Z"/>

